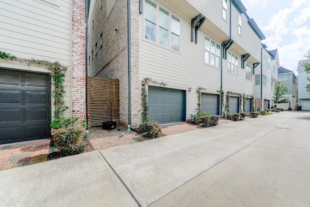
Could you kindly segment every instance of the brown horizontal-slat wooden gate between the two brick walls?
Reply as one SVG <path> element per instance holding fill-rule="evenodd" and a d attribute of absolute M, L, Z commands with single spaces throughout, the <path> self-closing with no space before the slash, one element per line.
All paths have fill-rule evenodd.
<path fill-rule="evenodd" d="M 120 82 L 88 77 L 88 127 L 102 126 L 104 121 L 120 122 Z"/>

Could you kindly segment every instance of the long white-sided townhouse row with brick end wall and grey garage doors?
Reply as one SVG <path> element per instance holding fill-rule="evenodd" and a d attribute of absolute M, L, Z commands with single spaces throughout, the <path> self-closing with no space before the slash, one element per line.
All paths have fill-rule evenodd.
<path fill-rule="evenodd" d="M 239 112 L 244 104 L 251 111 L 265 37 L 240 0 L 130 0 L 129 22 L 123 0 L 91 0 L 89 7 L 88 75 L 120 80 L 121 124 L 141 124 L 146 78 L 167 83 L 146 85 L 149 119 L 160 124 L 196 114 L 198 91 L 202 111 L 220 115 L 229 105 Z"/>

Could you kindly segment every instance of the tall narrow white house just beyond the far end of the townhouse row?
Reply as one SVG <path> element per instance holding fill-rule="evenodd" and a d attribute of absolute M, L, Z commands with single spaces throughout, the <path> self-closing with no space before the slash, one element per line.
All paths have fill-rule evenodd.
<path fill-rule="evenodd" d="M 255 68 L 255 108 L 270 109 L 273 103 L 274 82 L 277 81 L 279 54 L 278 49 L 268 50 L 262 44 L 260 67 Z"/>

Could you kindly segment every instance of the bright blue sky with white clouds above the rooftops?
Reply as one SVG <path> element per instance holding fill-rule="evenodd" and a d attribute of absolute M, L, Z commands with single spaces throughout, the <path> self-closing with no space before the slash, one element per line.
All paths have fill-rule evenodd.
<path fill-rule="evenodd" d="M 310 0 L 242 0 L 260 27 L 268 50 L 278 49 L 280 66 L 294 71 L 310 50 Z"/>

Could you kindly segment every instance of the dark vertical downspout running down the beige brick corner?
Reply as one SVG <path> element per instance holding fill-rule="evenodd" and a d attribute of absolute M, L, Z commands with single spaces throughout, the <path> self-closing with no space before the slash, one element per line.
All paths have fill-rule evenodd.
<path fill-rule="evenodd" d="M 127 29 L 128 29 L 128 126 L 127 130 L 130 130 L 131 125 L 131 74 L 130 74 L 130 0 L 127 0 Z"/>

